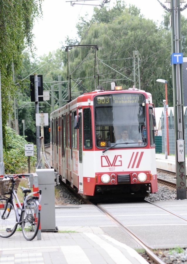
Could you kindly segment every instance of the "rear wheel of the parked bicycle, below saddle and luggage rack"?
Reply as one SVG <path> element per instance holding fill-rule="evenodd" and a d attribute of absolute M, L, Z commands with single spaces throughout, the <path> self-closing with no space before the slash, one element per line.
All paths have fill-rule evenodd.
<path fill-rule="evenodd" d="M 40 211 L 38 210 L 38 201 L 30 199 L 25 205 L 25 210 L 21 217 L 21 227 L 24 238 L 33 240 L 38 233 L 40 226 Z"/>

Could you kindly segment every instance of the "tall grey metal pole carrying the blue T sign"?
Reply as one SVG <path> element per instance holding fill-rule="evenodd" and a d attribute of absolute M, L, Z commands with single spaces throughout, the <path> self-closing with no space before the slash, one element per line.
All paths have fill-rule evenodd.
<path fill-rule="evenodd" d="M 181 53 L 180 0 L 171 0 L 172 53 Z M 186 162 L 184 148 L 184 106 L 182 64 L 172 64 L 173 109 L 175 127 L 176 193 L 177 199 L 186 199 Z M 181 147 L 182 146 L 182 147 Z"/>

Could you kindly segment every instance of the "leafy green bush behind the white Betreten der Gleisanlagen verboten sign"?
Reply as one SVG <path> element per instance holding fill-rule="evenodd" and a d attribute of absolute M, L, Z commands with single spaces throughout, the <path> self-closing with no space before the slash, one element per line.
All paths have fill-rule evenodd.
<path fill-rule="evenodd" d="M 25 156 L 25 144 L 23 137 L 17 135 L 11 128 L 7 128 L 7 148 L 4 150 L 5 174 L 25 173 L 28 170 L 28 157 Z M 35 167 L 35 156 L 31 156 L 31 167 Z"/>

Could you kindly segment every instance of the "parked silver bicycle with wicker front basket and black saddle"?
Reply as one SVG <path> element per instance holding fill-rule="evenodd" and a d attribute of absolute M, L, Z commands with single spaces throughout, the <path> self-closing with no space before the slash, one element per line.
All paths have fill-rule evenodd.
<path fill-rule="evenodd" d="M 40 226 L 41 205 L 39 201 L 41 200 L 41 190 L 31 192 L 31 189 L 20 187 L 24 194 L 21 205 L 16 194 L 21 178 L 24 178 L 23 174 L 6 175 L 0 181 L 0 194 L 3 196 L 0 199 L 0 236 L 4 238 L 12 236 L 19 224 L 24 238 L 33 240 Z M 10 197 L 6 197 L 7 194 L 10 194 Z M 40 194 L 40 199 L 33 196 L 36 194 Z"/>

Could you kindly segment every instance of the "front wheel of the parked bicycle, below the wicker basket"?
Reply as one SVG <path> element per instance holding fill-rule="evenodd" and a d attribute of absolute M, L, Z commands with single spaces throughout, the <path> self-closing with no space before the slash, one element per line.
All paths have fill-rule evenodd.
<path fill-rule="evenodd" d="M 18 226 L 14 206 L 8 199 L 0 199 L 0 236 L 12 236 Z"/>

